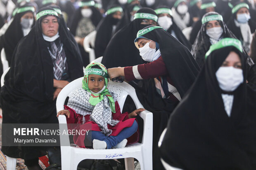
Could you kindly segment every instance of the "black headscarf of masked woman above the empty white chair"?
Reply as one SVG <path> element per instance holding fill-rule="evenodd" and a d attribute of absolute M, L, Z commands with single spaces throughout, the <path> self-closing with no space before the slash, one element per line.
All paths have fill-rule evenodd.
<path fill-rule="evenodd" d="M 91 0 L 83 0 L 82 2 L 89 2 L 89 1 Z M 78 9 L 76 9 L 76 12 L 73 14 L 73 19 L 71 23 L 69 23 L 70 32 L 73 35 L 76 35 L 76 28 L 78 26 L 79 21 L 83 17 L 81 14 L 81 9 L 82 7 L 79 7 Z M 90 16 L 90 19 L 96 28 L 98 23 L 100 23 L 100 20 L 102 19 L 102 14 L 100 14 L 100 11 L 96 9 L 94 6 L 90 6 L 90 9 L 92 10 L 92 15 Z"/>

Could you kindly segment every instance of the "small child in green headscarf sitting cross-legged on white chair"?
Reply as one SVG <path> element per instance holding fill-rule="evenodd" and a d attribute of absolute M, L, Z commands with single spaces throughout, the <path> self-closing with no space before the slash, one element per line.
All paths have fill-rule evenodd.
<path fill-rule="evenodd" d="M 138 124 L 135 117 L 145 109 L 133 112 L 120 112 L 114 93 L 107 89 L 107 69 L 101 63 L 91 63 L 85 68 L 83 87 L 76 89 L 69 98 L 65 109 L 57 116 L 67 116 L 67 123 L 92 125 L 93 149 L 123 148 L 127 144 L 138 142 Z M 79 128 L 82 129 L 83 125 Z M 74 136 L 74 143 L 84 147 L 85 135 Z"/>

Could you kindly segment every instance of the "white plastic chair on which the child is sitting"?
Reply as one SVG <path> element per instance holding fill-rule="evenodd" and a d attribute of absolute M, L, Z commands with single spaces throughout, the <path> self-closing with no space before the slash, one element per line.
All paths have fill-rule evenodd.
<path fill-rule="evenodd" d="M 82 86 L 82 79 L 83 77 L 78 78 L 62 89 L 56 102 L 57 112 L 64 109 L 63 105 L 66 97 L 70 95 L 72 91 Z M 116 93 L 121 111 L 127 95 L 130 95 L 133 99 L 137 109 L 143 108 L 137 98 L 135 89 L 126 82 L 116 83 L 110 81 L 108 88 L 109 91 Z M 63 146 L 63 142 L 69 140 L 69 138 L 67 135 L 64 137 L 61 136 L 62 170 L 76 170 L 78 163 L 84 159 L 113 159 L 111 156 L 114 156 L 114 158 L 125 158 L 126 162 L 128 162 L 128 160 L 130 161 L 130 158 L 136 158 L 140 162 L 141 170 L 152 170 L 153 114 L 145 110 L 140 113 L 140 116 L 144 121 L 142 143 L 131 144 L 125 148 L 85 149 L 74 146 Z M 59 115 L 59 123 L 66 124 L 66 116 Z M 67 126 L 65 126 L 64 130 L 67 130 Z M 132 169 L 134 169 L 134 167 L 129 167 L 126 164 L 126 170 Z"/>

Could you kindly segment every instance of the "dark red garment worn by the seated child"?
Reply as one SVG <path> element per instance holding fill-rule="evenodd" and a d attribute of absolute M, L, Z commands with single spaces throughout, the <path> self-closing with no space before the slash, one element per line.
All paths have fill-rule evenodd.
<path fill-rule="evenodd" d="M 66 118 L 67 119 L 67 123 L 68 124 L 74 124 L 74 123 L 77 123 L 77 124 L 81 124 L 80 126 L 78 126 L 76 129 L 79 130 L 79 129 L 87 129 L 85 128 L 85 126 L 82 124 L 83 123 L 83 117 L 85 117 L 85 123 L 84 124 L 88 124 L 90 123 L 91 126 L 92 126 L 92 130 L 94 131 L 102 131 L 100 129 L 100 127 L 97 125 L 97 123 L 93 122 L 93 121 L 90 121 L 90 114 L 87 114 L 85 116 L 81 115 L 81 114 L 77 114 L 73 109 L 71 109 L 70 107 L 64 105 L 65 109 L 69 110 L 70 112 L 70 117 L 69 118 Z M 113 113 L 112 112 L 112 116 L 113 116 L 113 119 L 115 120 L 119 120 L 120 122 L 116 124 L 116 126 L 111 126 L 108 124 L 108 128 L 112 130 L 112 133 L 110 136 L 116 136 L 118 135 L 122 130 L 123 128 L 128 128 L 130 126 L 133 125 L 133 122 L 134 121 L 137 121 L 135 118 L 131 118 L 129 119 L 128 117 L 128 112 L 125 112 L 125 113 L 121 113 L 120 112 L 120 107 L 119 107 L 119 104 L 118 102 L 116 101 L 115 102 L 115 108 L 116 108 L 116 113 Z M 133 144 L 133 143 L 136 143 L 139 141 L 139 136 L 140 136 L 140 133 L 139 133 L 139 128 L 137 129 L 137 131 L 132 135 L 130 136 L 127 140 L 127 144 Z M 74 143 L 80 147 L 85 147 L 84 145 L 84 140 L 85 140 L 85 135 L 74 135 Z"/>

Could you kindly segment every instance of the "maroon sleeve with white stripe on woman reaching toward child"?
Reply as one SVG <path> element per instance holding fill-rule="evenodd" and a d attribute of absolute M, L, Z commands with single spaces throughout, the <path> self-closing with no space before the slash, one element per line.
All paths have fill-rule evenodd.
<path fill-rule="evenodd" d="M 168 75 L 168 71 L 162 57 L 150 63 L 124 68 L 124 77 L 127 81 L 156 78 L 164 75 Z"/>

